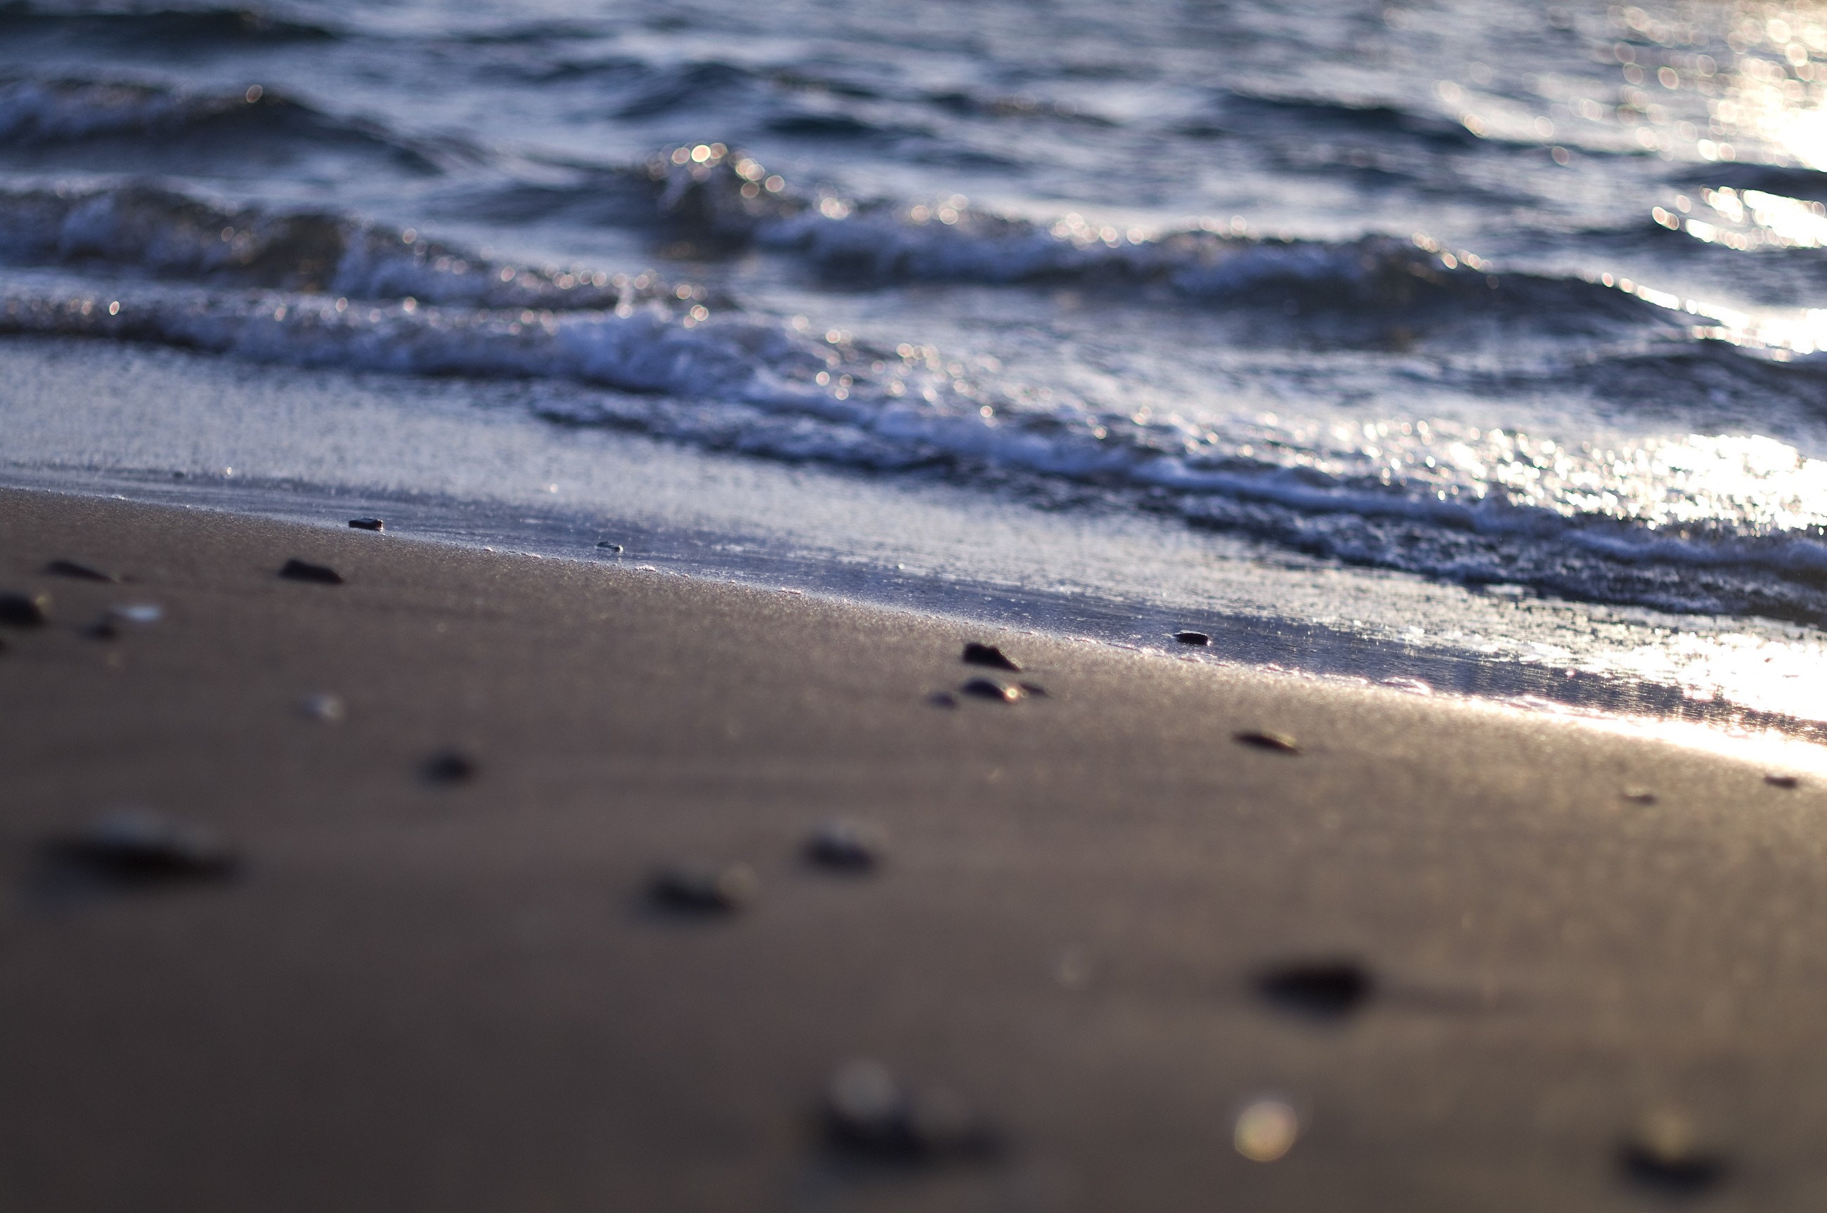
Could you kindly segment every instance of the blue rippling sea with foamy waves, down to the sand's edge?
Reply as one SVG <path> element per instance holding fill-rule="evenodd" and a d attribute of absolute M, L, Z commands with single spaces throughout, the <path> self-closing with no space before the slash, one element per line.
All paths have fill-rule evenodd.
<path fill-rule="evenodd" d="M 1811 733 L 1823 99 L 1798 4 L 26 0 L 0 479 Z"/>

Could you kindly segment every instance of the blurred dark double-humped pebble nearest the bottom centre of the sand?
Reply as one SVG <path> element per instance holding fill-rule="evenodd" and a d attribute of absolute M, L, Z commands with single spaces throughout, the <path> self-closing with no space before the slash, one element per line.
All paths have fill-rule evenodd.
<path fill-rule="evenodd" d="M 956 1094 L 910 1089 L 881 1061 L 846 1061 L 824 1089 L 831 1145 L 881 1162 L 945 1162 L 996 1153 L 996 1134 Z"/>

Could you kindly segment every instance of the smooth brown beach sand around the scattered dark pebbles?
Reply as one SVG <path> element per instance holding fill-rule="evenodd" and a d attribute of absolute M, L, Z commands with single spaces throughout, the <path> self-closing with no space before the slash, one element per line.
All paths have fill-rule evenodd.
<path fill-rule="evenodd" d="M 327 521 L 0 493 L 0 590 L 53 596 L 0 628 L 7 1211 L 1827 1204 L 1820 780 Z M 84 636 L 115 603 L 164 617 Z M 934 705 L 966 639 L 1049 696 Z M 475 778 L 424 778 L 449 747 Z M 71 886 L 44 840 L 115 806 L 239 875 Z M 881 871 L 800 857 L 829 817 Z M 649 904 L 689 855 L 755 901 Z M 1255 985 L 1330 957 L 1354 1012 Z M 1001 1153 L 835 1147 L 859 1056 Z"/>

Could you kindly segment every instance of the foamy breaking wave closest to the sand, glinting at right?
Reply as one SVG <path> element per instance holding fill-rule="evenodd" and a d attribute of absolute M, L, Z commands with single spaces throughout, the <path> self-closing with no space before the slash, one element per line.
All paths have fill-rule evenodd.
<path fill-rule="evenodd" d="M 519 378 L 548 384 L 535 407 L 570 424 L 776 459 L 930 466 L 965 480 L 1025 477 L 1041 493 L 1076 484 L 1325 559 L 1469 585 L 1827 621 L 1827 466 L 1772 440 L 1621 455 L 1451 422 L 1370 435 L 1127 417 L 1036 395 L 988 365 L 946 364 L 928 347 L 877 349 L 713 314 L 663 290 L 614 309 L 515 311 L 153 283 L 117 298 L 15 287 L 0 331 Z"/>

